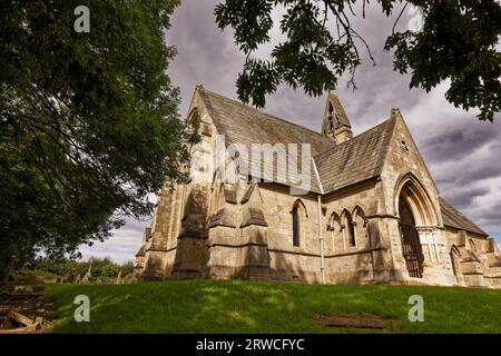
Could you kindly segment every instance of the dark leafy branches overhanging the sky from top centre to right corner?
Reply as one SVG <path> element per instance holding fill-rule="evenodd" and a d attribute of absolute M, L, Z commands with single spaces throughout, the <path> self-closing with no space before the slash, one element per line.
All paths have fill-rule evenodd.
<path fill-rule="evenodd" d="M 348 71 L 355 87 L 361 50 L 372 59 L 369 43 L 351 26 L 355 0 L 306 1 L 226 0 L 215 9 L 219 28 L 235 30 L 236 44 L 246 55 L 237 80 L 244 102 L 264 107 L 266 95 L 277 86 L 302 87 L 310 96 L 335 89 Z M 379 0 L 383 13 L 391 16 L 401 0 Z M 363 14 L 369 1 L 363 1 Z M 411 87 L 431 90 L 444 80 L 451 82 L 446 99 L 465 110 L 479 108 L 479 119 L 493 120 L 500 111 L 501 62 L 495 46 L 501 36 L 501 6 L 495 0 L 412 0 L 424 14 L 422 30 L 390 33 L 385 50 L 394 50 L 394 69 L 411 72 Z M 405 8 L 404 8 L 405 9 Z M 259 44 L 271 41 L 272 11 L 281 14 L 285 40 L 274 43 L 265 55 L 254 58 Z M 402 11 L 403 13 L 403 11 Z M 397 17 L 399 19 L 400 17 Z M 373 59 L 372 59 L 373 60 Z M 374 60 L 373 60 L 374 62 Z"/>

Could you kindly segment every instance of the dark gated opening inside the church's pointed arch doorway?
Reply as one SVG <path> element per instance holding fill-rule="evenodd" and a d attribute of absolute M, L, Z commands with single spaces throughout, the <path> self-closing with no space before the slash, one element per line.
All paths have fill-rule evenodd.
<path fill-rule="evenodd" d="M 401 196 L 399 199 L 399 229 L 402 237 L 402 254 L 411 277 L 423 277 L 424 255 L 420 235 L 415 228 L 414 216 L 409 204 Z"/>

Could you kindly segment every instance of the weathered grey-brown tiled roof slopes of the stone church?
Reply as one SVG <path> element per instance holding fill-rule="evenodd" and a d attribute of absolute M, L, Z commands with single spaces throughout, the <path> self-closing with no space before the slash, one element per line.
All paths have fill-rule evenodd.
<path fill-rule="evenodd" d="M 396 123 L 396 118 L 391 117 L 347 141 L 335 144 L 320 132 L 228 99 L 202 86 L 198 92 L 217 131 L 225 135 L 226 145 L 243 144 L 250 149 L 252 144 L 311 144 L 315 162 L 311 169 L 311 190 L 317 194 L 327 194 L 379 177 Z M 273 165 L 274 177 L 276 166 Z M 318 171 L 320 182 L 315 170 Z M 442 198 L 440 206 L 445 226 L 488 236 Z"/>

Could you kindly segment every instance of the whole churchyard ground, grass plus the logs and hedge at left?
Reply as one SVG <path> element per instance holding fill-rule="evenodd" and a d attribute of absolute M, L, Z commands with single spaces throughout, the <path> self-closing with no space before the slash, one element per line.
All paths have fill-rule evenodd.
<path fill-rule="evenodd" d="M 0 334 L 501 333 L 501 290 L 132 277 L 107 259 L 39 261 L 0 286 Z"/>

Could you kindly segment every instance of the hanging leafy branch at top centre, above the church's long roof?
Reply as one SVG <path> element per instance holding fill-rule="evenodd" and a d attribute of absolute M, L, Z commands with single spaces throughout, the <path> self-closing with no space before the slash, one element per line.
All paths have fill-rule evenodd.
<path fill-rule="evenodd" d="M 353 1 L 351 1 L 353 2 Z M 253 52 L 268 42 L 273 28 L 272 10 L 285 8 L 279 21 L 286 41 L 275 46 L 271 59 L 255 59 Z M 344 3 L 331 3 L 341 12 Z M 244 70 L 237 79 L 237 92 L 244 102 L 264 107 L 266 95 L 275 92 L 281 83 L 303 87 L 306 93 L 321 96 L 335 88 L 345 71 L 354 72 L 360 65 L 353 33 L 334 39 L 326 28 L 327 4 L 320 8 L 310 1 L 238 1 L 220 3 L 215 9 L 219 28 L 232 27 L 235 42 L 247 55 Z"/>

